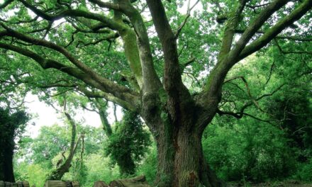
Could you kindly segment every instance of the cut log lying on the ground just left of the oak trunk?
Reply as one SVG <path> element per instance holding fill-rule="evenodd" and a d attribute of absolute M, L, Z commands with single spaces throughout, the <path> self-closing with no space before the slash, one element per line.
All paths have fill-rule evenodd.
<path fill-rule="evenodd" d="M 130 179 L 118 179 L 111 181 L 109 187 L 150 187 L 145 176 L 136 176 Z"/>

